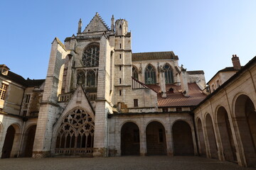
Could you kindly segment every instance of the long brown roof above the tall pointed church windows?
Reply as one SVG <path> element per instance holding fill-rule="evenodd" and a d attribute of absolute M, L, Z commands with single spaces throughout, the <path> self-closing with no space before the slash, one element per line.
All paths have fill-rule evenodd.
<path fill-rule="evenodd" d="M 132 53 L 132 62 L 143 60 L 178 60 L 178 56 L 174 52 L 139 52 Z"/>

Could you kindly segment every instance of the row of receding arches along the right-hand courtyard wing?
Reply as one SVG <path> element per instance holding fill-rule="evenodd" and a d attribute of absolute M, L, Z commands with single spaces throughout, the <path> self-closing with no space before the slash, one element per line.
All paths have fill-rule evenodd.
<path fill-rule="evenodd" d="M 195 118 L 201 156 L 255 166 L 256 113 L 251 98 L 238 94 L 232 106 L 220 105 L 221 101 L 201 106 Z M 216 107 L 211 109 L 213 106 Z"/>

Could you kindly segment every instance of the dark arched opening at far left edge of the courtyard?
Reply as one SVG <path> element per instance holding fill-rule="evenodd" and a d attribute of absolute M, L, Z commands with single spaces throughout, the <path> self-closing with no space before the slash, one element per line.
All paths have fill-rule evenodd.
<path fill-rule="evenodd" d="M 9 158 L 11 155 L 11 149 L 14 144 L 14 137 L 15 137 L 15 129 L 14 126 L 10 125 L 6 132 L 6 137 L 4 140 L 4 146 L 2 149 L 1 158 Z"/>

